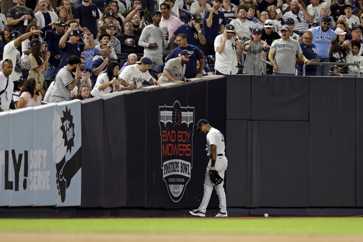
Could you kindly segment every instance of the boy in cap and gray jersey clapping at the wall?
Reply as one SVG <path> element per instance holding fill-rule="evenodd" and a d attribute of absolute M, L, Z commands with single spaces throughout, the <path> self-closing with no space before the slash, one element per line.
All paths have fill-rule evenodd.
<path fill-rule="evenodd" d="M 262 75 L 261 56 L 262 51 L 267 51 L 267 42 L 261 40 L 261 30 L 253 29 L 251 38 L 245 42 L 246 59 L 243 68 L 245 75 Z"/>

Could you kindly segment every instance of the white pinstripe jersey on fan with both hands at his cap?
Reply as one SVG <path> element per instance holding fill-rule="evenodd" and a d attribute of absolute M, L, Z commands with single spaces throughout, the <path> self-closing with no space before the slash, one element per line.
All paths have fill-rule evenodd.
<path fill-rule="evenodd" d="M 220 34 L 216 37 L 214 41 L 214 50 L 216 52 L 216 62 L 214 65 L 214 69 L 218 70 L 220 73 L 223 74 L 237 74 L 237 44 L 234 41 L 234 38 L 226 40 L 224 45 L 224 49 L 222 53 L 219 53 L 217 47 L 220 46 L 223 42 L 224 35 Z"/>

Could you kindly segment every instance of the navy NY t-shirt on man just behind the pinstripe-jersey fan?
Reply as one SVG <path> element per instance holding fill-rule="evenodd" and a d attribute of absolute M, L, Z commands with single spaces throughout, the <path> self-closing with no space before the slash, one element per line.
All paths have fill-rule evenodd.
<path fill-rule="evenodd" d="M 215 38 L 219 35 L 221 30 L 221 25 L 226 25 L 226 20 L 224 17 L 224 13 L 218 11 L 218 13 L 212 12 L 212 26 L 208 28 L 207 26 L 207 19 L 209 17 L 209 11 L 204 15 L 204 22 L 203 22 L 203 35 L 205 37 L 205 44 L 213 45 Z"/>

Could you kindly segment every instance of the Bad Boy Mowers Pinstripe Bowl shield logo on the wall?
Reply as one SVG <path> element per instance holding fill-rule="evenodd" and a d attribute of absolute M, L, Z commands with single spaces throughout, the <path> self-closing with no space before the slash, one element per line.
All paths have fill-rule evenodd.
<path fill-rule="evenodd" d="M 187 186 L 192 162 L 194 107 L 159 106 L 163 179 L 172 201 L 179 202 Z"/>

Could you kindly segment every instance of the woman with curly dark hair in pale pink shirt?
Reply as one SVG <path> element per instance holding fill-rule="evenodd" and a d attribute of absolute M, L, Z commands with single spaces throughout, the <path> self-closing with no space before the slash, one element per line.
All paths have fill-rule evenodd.
<path fill-rule="evenodd" d="M 16 109 L 41 105 L 42 95 L 39 93 L 40 85 L 34 78 L 25 81 L 25 86 L 20 93 L 20 99 Z"/>

